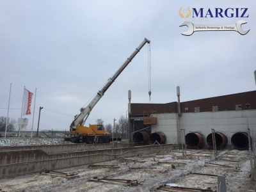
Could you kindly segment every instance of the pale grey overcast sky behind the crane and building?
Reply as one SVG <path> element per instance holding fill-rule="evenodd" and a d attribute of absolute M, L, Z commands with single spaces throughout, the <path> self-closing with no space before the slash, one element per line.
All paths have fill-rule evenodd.
<path fill-rule="evenodd" d="M 248 8 L 246 18 L 193 20 L 180 8 Z M 150 43 L 151 103 L 217 97 L 255 90 L 255 1 L 0 1 L 0 116 L 20 118 L 24 86 L 34 93 L 27 131 L 69 130 L 81 107 L 124 63 L 144 38 Z M 235 11 L 234 11 L 235 12 Z M 185 14 L 186 15 L 186 14 Z M 241 12 L 239 12 L 239 16 Z M 236 31 L 195 32 L 179 27 L 248 22 Z M 35 99 L 36 89 L 36 103 Z M 148 103 L 148 45 L 116 79 L 93 108 L 86 124 L 126 116 L 132 103 Z"/>

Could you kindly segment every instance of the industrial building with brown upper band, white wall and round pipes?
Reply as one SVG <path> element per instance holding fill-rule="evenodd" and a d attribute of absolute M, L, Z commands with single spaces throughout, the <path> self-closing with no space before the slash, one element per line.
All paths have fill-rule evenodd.
<path fill-rule="evenodd" d="M 190 148 L 211 148 L 214 131 L 217 148 L 245 149 L 248 129 L 251 141 L 255 139 L 256 91 L 180 102 L 180 113 L 179 102 L 130 106 L 130 141 L 137 145 L 148 145 L 157 138 L 164 143 L 180 144 L 186 138 Z M 145 124 L 149 116 L 157 122 Z M 155 132 L 159 136 L 152 138 Z"/>

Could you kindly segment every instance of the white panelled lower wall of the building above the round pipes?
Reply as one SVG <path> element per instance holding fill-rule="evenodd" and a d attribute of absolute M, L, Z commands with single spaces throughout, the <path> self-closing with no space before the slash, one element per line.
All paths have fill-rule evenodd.
<path fill-rule="evenodd" d="M 232 146 L 231 137 L 236 132 L 250 129 L 252 139 L 256 138 L 256 110 L 212 111 L 198 113 L 163 113 L 157 115 L 157 125 L 152 125 L 152 132 L 161 131 L 166 134 L 166 143 L 180 144 L 180 129 L 188 132 L 201 132 L 205 140 L 212 130 L 223 132 Z M 207 143 L 205 142 L 205 145 Z"/>

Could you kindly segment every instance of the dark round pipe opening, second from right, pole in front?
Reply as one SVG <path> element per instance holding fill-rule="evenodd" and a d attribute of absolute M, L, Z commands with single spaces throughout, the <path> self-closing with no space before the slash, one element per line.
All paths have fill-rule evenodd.
<path fill-rule="evenodd" d="M 223 132 L 215 132 L 216 149 L 222 150 L 228 143 L 228 138 Z M 206 138 L 207 144 L 210 148 L 213 148 L 212 133 Z"/>

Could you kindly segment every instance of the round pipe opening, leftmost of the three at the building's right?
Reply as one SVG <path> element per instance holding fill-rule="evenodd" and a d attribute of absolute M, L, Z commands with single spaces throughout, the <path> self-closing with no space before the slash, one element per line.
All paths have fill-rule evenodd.
<path fill-rule="evenodd" d="M 204 147 L 204 135 L 200 132 L 189 132 L 185 136 L 186 145 L 191 149 L 199 149 Z"/>

